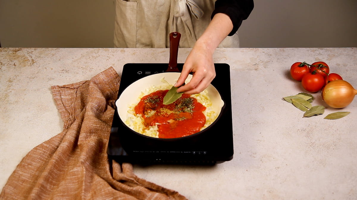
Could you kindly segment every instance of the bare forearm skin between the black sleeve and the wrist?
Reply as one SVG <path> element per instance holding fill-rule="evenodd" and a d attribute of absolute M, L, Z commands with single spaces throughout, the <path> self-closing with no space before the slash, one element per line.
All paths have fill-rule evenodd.
<path fill-rule="evenodd" d="M 232 28 L 233 24 L 230 17 L 223 13 L 217 13 L 202 36 L 198 38 L 195 46 L 204 47 L 208 52 L 213 54 L 218 45 L 232 31 Z"/>

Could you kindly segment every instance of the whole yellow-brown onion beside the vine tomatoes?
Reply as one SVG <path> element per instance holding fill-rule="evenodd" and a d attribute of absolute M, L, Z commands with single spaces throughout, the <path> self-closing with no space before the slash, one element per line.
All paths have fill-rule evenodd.
<path fill-rule="evenodd" d="M 357 90 L 345 80 L 334 80 L 322 89 L 322 100 L 333 108 L 343 108 L 351 104 Z"/>

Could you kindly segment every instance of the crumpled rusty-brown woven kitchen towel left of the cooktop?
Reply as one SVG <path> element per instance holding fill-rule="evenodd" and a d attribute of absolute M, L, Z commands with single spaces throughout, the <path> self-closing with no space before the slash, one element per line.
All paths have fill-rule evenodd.
<path fill-rule="evenodd" d="M 0 199 L 186 199 L 108 159 L 119 83 L 110 67 L 89 81 L 52 86 L 64 130 L 21 160 Z"/>

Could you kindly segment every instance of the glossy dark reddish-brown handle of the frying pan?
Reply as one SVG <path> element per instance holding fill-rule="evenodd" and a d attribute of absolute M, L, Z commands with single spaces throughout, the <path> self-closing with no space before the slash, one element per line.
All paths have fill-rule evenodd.
<path fill-rule="evenodd" d="M 181 33 L 170 33 L 170 61 L 166 72 L 180 72 L 177 68 L 178 44 L 180 44 Z"/>

